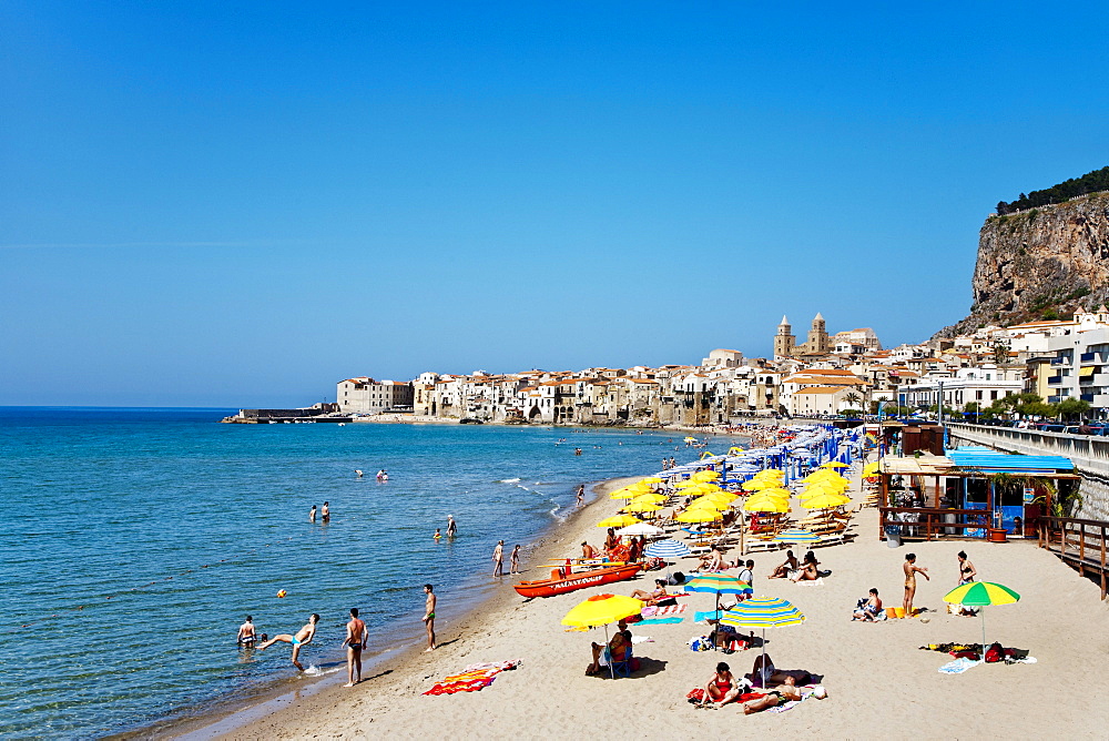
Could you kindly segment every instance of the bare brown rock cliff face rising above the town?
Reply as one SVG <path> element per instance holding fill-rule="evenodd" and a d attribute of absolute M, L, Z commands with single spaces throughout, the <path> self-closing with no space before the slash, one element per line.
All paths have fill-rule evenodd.
<path fill-rule="evenodd" d="M 973 286 L 970 315 L 936 337 L 1109 303 L 1109 193 L 987 219 Z"/>

